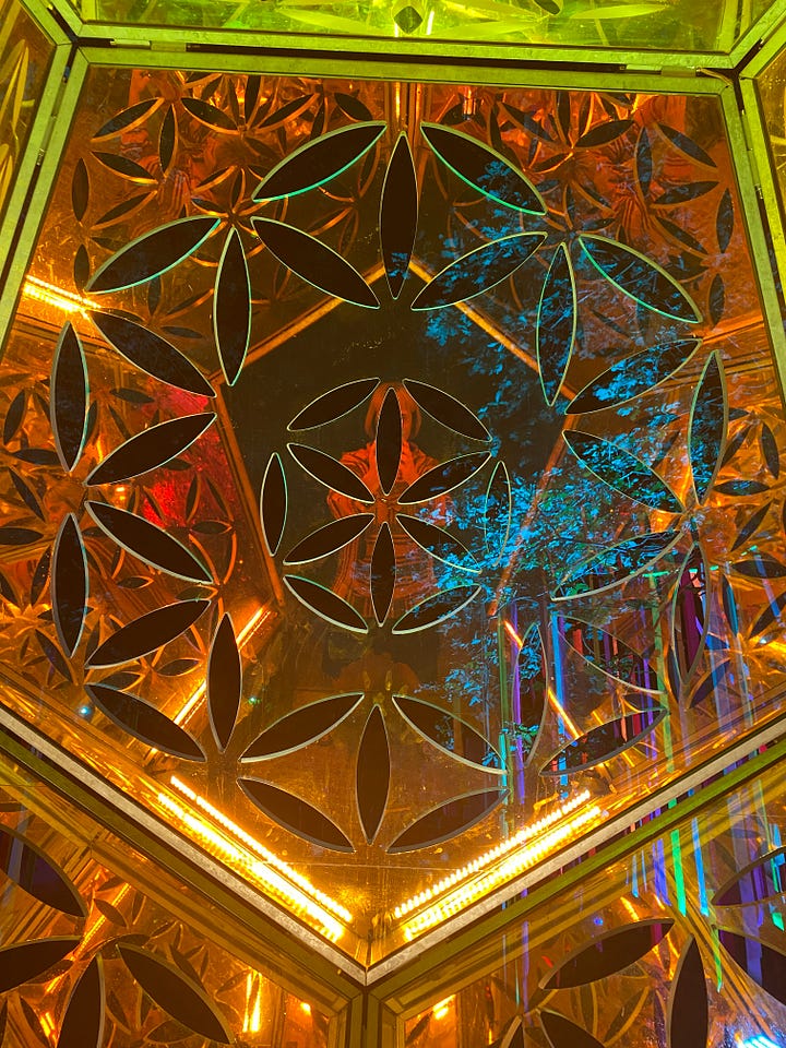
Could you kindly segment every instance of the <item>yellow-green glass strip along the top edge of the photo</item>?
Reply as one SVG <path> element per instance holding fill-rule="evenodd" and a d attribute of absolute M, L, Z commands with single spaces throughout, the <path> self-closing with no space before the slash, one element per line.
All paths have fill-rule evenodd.
<path fill-rule="evenodd" d="M 450 43 L 730 50 L 769 0 L 72 0 L 83 19 Z"/>

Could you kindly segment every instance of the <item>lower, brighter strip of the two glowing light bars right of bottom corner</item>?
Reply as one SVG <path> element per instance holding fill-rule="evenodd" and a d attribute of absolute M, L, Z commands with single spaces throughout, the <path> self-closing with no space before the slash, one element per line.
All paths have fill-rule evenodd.
<path fill-rule="evenodd" d="M 432 928 L 448 917 L 457 914 L 469 903 L 475 902 L 512 877 L 534 866 L 544 858 L 545 855 L 569 839 L 577 831 L 585 829 L 602 814 L 602 809 L 597 805 L 592 805 L 590 808 L 577 812 L 562 825 L 556 825 L 552 830 L 549 830 L 543 834 L 543 836 L 538 837 L 537 841 L 533 841 L 514 851 L 503 862 L 495 867 L 495 869 L 489 870 L 481 877 L 471 880 L 468 883 L 440 900 L 436 905 L 422 910 L 422 913 L 418 914 L 417 917 L 404 926 L 404 937 L 407 941 L 410 941 L 428 928 Z"/>

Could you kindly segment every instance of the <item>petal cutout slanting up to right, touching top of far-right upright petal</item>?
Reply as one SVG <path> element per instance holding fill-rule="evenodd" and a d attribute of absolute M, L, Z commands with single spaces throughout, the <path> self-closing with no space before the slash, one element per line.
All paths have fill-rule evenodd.
<path fill-rule="evenodd" d="M 618 360 L 576 394 L 565 414 L 582 415 L 617 407 L 654 390 L 690 360 L 701 344 L 701 338 L 663 342 Z"/>

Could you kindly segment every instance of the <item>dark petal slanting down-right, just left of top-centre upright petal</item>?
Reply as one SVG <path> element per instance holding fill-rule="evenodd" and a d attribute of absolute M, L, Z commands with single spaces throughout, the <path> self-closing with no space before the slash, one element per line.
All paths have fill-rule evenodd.
<path fill-rule="evenodd" d="M 379 309 L 379 299 L 354 265 L 315 237 L 275 218 L 252 218 L 251 225 L 282 265 L 325 295 Z"/>

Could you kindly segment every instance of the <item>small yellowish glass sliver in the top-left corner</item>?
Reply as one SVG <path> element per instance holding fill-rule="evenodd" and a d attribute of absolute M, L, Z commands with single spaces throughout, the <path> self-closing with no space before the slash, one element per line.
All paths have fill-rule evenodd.
<path fill-rule="evenodd" d="M 0 217 L 53 47 L 16 0 L 0 4 Z"/>

